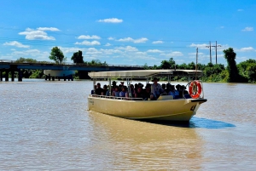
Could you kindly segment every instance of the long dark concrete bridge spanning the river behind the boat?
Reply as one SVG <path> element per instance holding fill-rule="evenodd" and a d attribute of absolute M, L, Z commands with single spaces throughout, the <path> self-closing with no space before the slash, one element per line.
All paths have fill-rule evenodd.
<path fill-rule="evenodd" d="M 3 81 L 3 71 L 5 71 L 5 81 L 9 81 L 9 72 L 11 72 L 11 81 L 15 81 L 15 71 L 19 72 L 18 81 L 22 81 L 22 72 L 20 69 L 30 70 L 58 70 L 58 71 L 85 71 L 88 75 L 90 71 L 127 71 L 143 70 L 143 66 L 128 65 L 106 65 L 106 66 L 88 66 L 81 63 L 63 63 L 37 61 L 33 63 L 20 63 L 16 60 L 0 60 L 0 81 Z M 49 78 L 50 79 L 50 78 Z"/>

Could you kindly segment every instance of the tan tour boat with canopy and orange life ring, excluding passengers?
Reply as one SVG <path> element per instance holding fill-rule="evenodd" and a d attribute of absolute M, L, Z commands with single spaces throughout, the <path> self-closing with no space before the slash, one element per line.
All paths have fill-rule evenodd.
<path fill-rule="evenodd" d="M 165 77 L 170 83 L 172 77 L 187 77 L 189 94 L 183 94 L 183 98 L 174 99 L 172 95 L 160 95 L 157 100 L 143 100 L 130 97 L 113 97 L 106 95 L 90 94 L 88 97 L 88 110 L 108 114 L 115 117 L 128 119 L 149 119 L 189 122 L 200 105 L 207 101 L 204 98 L 202 71 L 198 70 L 137 70 L 137 71 L 100 71 L 90 72 L 93 80 L 93 88 L 97 80 L 111 80 L 121 78 L 126 80 L 128 92 L 133 79 L 145 79 L 150 83 L 152 77 Z M 93 92 L 93 91 L 92 91 Z M 129 92 L 130 94 L 131 92 Z"/>

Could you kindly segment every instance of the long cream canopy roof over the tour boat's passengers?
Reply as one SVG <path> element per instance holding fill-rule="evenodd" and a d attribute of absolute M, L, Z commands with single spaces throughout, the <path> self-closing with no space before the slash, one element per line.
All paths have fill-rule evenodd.
<path fill-rule="evenodd" d="M 131 71 L 98 71 L 89 72 L 91 78 L 125 77 L 125 78 L 147 78 L 161 76 L 202 77 L 199 70 L 131 70 Z"/>

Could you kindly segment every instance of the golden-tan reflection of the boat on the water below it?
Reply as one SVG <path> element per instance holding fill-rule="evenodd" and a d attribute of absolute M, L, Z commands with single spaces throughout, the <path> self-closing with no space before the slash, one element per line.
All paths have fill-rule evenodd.
<path fill-rule="evenodd" d="M 108 160 L 113 168 L 167 169 L 175 165 L 180 169 L 201 169 L 204 140 L 195 129 L 88 113 L 93 128 L 99 129 L 93 131 L 92 139 L 104 140 L 106 147 L 99 142 L 90 152 L 98 153 L 96 149 L 101 146 L 101 151 L 112 156 Z"/>

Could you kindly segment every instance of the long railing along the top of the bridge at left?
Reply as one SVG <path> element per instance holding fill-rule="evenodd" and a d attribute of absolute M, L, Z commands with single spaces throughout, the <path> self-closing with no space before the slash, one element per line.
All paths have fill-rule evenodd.
<path fill-rule="evenodd" d="M 37 65 L 37 64 L 49 64 L 49 65 L 56 65 L 56 66 L 112 66 L 112 67 L 137 67 L 143 68 L 144 66 L 128 66 L 128 65 L 112 65 L 112 64 L 96 64 L 96 65 L 89 65 L 86 63 L 72 63 L 72 62 L 62 62 L 61 64 L 49 61 L 19 61 L 19 60 L 0 60 L 1 63 L 9 63 L 9 64 L 24 64 L 24 65 Z"/>

